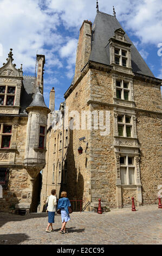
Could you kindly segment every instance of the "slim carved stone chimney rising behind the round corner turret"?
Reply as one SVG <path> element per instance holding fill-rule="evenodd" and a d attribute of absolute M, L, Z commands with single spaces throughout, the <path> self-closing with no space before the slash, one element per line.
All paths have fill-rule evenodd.
<path fill-rule="evenodd" d="M 43 94 L 43 74 L 44 74 L 44 64 L 45 64 L 45 56 L 37 54 L 37 80 L 36 87 L 41 87 L 41 93 Z"/>

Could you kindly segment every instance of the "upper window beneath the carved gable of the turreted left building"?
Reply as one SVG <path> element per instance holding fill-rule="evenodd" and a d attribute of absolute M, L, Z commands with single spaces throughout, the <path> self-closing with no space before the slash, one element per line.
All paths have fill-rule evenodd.
<path fill-rule="evenodd" d="M 14 106 L 15 102 L 15 86 L 0 86 L 0 105 L 1 106 Z"/>

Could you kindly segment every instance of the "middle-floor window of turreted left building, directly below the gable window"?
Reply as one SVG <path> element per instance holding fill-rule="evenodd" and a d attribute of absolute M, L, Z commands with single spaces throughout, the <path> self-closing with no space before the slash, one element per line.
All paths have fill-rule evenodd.
<path fill-rule="evenodd" d="M 0 124 L 0 144 L 1 148 L 8 149 L 11 145 L 12 125 Z"/>

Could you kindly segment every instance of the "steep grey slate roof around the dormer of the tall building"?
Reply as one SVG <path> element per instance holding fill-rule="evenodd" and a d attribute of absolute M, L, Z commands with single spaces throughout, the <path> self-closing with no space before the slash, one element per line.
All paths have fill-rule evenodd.
<path fill-rule="evenodd" d="M 92 28 L 92 50 L 89 60 L 109 65 L 109 45 L 108 40 L 114 36 L 114 31 L 122 28 L 115 16 L 98 11 Z M 123 29 L 123 28 L 122 28 Z M 125 34 L 126 40 L 131 45 L 131 59 L 133 72 L 154 77 L 146 62 L 141 57 L 133 42 Z M 106 47 L 107 46 L 107 47 Z"/>

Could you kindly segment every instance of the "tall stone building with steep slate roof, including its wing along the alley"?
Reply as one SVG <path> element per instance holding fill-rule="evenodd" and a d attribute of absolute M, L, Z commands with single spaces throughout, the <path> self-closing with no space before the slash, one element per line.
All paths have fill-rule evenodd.
<path fill-rule="evenodd" d="M 87 210 L 99 198 L 109 208 L 130 205 L 132 196 L 137 205 L 157 203 L 162 184 L 160 86 L 115 13 L 97 10 L 93 24 L 83 21 L 60 128 L 54 89 L 50 92 L 55 115 L 49 114 L 41 210 L 51 188 L 57 197 L 66 190 L 69 199 L 83 200 L 83 206 L 89 202 Z M 86 120 L 92 127 L 85 127 Z"/>

